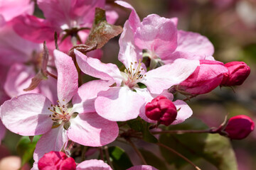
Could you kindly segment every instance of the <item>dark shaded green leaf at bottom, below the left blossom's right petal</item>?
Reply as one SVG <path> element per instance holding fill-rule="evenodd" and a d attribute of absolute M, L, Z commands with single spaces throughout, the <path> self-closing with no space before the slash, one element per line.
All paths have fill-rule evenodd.
<path fill-rule="evenodd" d="M 108 152 L 110 153 L 110 160 L 116 170 L 129 169 L 133 166 L 127 153 L 119 147 L 109 147 Z"/>

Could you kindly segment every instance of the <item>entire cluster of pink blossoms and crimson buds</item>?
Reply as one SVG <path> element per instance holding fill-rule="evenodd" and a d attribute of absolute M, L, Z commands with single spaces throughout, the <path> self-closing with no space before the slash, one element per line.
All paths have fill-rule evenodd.
<path fill-rule="evenodd" d="M 115 1 L 131 11 L 123 28 L 113 25 L 118 13 L 105 0 L 38 0 L 44 18 L 33 16 L 30 0 L 0 2 L 0 140 L 6 128 L 42 135 L 33 169 L 112 169 L 96 159 L 75 164 L 70 142 L 108 145 L 120 137 L 117 122 L 128 120 L 156 128 L 183 123 L 193 111 L 175 93 L 192 98 L 241 85 L 250 74 L 244 62 L 215 60 L 210 40 L 178 30 L 178 18 L 150 14 L 141 21 L 125 1 Z M 122 68 L 100 60 L 100 48 L 119 33 Z M 85 74 L 97 79 L 85 82 Z M 254 129 L 249 122 L 238 132 L 230 119 L 215 132 L 242 139 Z"/>

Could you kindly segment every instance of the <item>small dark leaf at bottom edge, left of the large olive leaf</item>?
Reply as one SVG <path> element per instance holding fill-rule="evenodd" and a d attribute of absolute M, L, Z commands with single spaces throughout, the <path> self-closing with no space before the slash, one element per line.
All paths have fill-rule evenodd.
<path fill-rule="evenodd" d="M 165 162 L 159 159 L 156 154 L 149 152 L 145 149 L 139 149 L 139 151 L 142 153 L 142 156 L 146 160 L 147 164 L 154 166 L 156 169 L 168 170 Z"/>

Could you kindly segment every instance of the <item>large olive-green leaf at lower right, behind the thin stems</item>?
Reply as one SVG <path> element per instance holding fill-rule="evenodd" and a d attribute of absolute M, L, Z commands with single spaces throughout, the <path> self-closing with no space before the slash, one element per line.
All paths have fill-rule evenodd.
<path fill-rule="evenodd" d="M 173 125 L 168 130 L 206 130 L 207 125 L 201 120 L 189 119 L 185 123 Z M 235 154 L 230 144 L 230 140 L 218 134 L 194 134 L 186 133 L 182 135 L 164 134 L 160 136 L 160 142 L 175 149 L 191 161 L 203 158 L 220 170 L 238 169 Z M 177 168 L 187 164 L 176 154 L 160 147 L 161 154 L 169 164 L 175 164 Z M 202 168 L 202 167 L 201 167 Z"/>

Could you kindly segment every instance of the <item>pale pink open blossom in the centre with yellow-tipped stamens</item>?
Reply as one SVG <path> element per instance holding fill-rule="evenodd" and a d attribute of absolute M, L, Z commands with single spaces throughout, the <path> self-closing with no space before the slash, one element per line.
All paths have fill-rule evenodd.
<path fill-rule="evenodd" d="M 142 91 L 138 83 L 145 84 L 148 93 L 160 94 L 186 79 L 198 66 L 196 61 L 179 59 L 173 64 L 146 72 L 132 46 L 127 47 L 127 51 L 129 52 L 119 55 L 119 60 L 127 68 L 120 72 L 114 64 L 104 64 L 75 50 L 76 60 L 82 72 L 112 82 L 112 86 L 107 91 L 100 91 L 95 100 L 97 113 L 112 121 L 137 118 L 145 103 L 144 94 L 138 92 Z"/>

